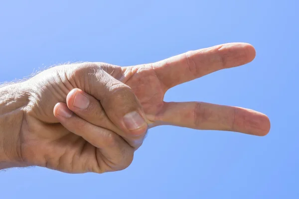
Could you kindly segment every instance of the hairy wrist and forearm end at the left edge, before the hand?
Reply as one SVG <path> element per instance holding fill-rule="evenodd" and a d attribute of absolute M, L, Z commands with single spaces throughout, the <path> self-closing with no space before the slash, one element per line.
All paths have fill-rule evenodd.
<path fill-rule="evenodd" d="M 21 167 L 20 129 L 28 97 L 23 84 L 0 88 L 0 169 Z"/>

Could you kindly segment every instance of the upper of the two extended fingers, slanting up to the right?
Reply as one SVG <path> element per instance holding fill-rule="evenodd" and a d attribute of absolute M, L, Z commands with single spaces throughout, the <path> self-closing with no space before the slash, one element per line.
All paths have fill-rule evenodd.
<path fill-rule="evenodd" d="M 152 64 L 166 90 L 215 71 L 251 62 L 256 52 L 247 43 L 227 43 L 189 51 Z"/>

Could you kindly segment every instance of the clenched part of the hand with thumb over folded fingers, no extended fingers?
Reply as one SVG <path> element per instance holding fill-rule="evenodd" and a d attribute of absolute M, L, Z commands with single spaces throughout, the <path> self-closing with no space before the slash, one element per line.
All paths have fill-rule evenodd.
<path fill-rule="evenodd" d="M 65 65 L 24 82 L 29 102 L 19 135 L 10 135 L 19 140 L 18 159 L 67 173 L 128 167 L 148 126 L 133 91 L 110 70 L 104 64 Z"/>

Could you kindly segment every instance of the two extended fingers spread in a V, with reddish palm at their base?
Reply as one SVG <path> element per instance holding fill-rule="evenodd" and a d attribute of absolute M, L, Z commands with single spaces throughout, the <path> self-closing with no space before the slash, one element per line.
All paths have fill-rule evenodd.
<path fill-rule="evenodd" d="M 254 110 L 204 102 L 164 102 L 166 91 L 215 71 L 240 66 L 255 58 L 250 44 L 230 43 L 190 51 L 152 64 L 123 67 L 117 78 L 132 88 L 149 120 L 194 129 L 236 131 L 263 136 L 269 118 Z"/>

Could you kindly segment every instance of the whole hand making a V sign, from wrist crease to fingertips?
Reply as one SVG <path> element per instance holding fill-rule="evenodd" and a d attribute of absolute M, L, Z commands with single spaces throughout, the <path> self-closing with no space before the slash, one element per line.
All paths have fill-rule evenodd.
<path fill-rule="evenodd" d="M 139 66 L 85 63 L 46 70 L 25 82 L 30 100 L 16 146 L 18 158 L 68 173 L 103 173 L 130 165 L 148 125 L 266 135 L 268 117 L 253 110 L 163 101 L 171 87 L 254 57 L 251 45 L 235 43 Z"/>

